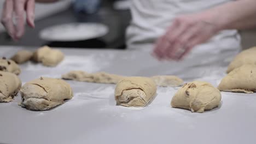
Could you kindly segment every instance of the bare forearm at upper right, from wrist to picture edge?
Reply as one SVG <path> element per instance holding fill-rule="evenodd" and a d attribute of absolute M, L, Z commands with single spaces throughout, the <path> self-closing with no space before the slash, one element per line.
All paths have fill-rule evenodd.
<path fill-rule="evenodd" d="M 256 27 L 256 1 L 229 2 L 206 11 L 209 21 L 217 20 L 220 29 L 247 29 Z M 212 20 L 211 20 L 212 19 Z"/>

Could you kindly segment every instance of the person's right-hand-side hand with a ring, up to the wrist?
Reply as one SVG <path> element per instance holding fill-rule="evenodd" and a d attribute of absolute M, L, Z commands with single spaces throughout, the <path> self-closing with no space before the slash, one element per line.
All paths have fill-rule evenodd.
<path fill-rule="evenodd" d="M 220 29 L 203 17 L 207 16 L 192 14 L 174 19 L 166 34 L 158 39 L 153 55 L 159 60 L 173 59 L 177 61 L 182 59 L 194 46 L 213 37 Z"/>

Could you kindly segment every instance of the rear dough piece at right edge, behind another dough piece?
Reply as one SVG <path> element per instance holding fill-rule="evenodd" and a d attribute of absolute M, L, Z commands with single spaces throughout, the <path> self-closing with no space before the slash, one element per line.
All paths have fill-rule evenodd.
<path fill-rule="evenodd" d="M 245 64 L 254 64 L 256 65 L 256 47 L 252 47 L 250 49 L 244 50 L 240 52 L 234 60 L 229 64 L 228 70 L 226 73 L 230 73 L 230 71 L 241 67 Z"/>

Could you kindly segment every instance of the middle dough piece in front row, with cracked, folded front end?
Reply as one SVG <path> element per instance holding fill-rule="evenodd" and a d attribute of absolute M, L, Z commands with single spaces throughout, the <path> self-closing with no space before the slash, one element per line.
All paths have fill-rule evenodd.
<path fill-rule="evenodd" d="M 148 77 L 126 77 L 115 87 L 117 105 L 144 107 L 156 94 L 155 82 Z"/>

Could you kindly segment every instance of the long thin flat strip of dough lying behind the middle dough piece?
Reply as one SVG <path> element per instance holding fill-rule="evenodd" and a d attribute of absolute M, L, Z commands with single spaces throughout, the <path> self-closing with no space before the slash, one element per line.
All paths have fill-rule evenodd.
<path fill-rule="evenodd" d="M 86 73 L 85 71 L 73 70 L 62 75 L 62 79 L 75 80 L 82 82 L 96 82 L 96 83 L 118 83 L 127 76 L 113 75 L 105 72 Z M 160 87 L 178 87 L 183 85 L 183 80 L 177 76 L 162 75 L 150 77 Z"/>

